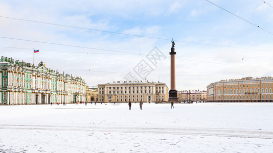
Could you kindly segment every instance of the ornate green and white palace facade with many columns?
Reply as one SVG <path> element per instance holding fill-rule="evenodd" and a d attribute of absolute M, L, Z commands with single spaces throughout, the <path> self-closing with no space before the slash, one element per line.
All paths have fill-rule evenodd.
<path fill-rule="evenodd" d="M 1 57 L 1 104 L 51 104 L 85 101 L 85 82 L 45 67 Z"/>

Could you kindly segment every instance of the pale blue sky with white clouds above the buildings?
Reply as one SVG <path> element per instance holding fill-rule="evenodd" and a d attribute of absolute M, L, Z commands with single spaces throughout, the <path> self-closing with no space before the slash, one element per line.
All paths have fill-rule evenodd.
<path fill-rule="evenodd" d="M 51 69 L 84 78 L 91 87 L 125 80 L 129 72 L 138 77 L 133 69 L 157 47 L 166 59 L 148 63 L 153 71 L 146 78 L 170 87 L 173 38 L 177 90 L 207 90 L 220 80 L 272 76 L 273 1 L 210 2 L 248 22 L 204 0 L 0 1 L 0 53 L 33 63 L 35 47 L 40 50 L 36 65 L 43 61 Z"/>

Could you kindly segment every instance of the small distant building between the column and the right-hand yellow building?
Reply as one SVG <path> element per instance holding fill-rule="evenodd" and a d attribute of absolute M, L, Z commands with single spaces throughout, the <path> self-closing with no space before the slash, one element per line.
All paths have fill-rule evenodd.
<path fill-rule="evenodd" d="M 207 101 L 207 91 L 199 90 L 184 90 L 177 92 L 178 101 L 188 102 L 188 101 Z"/>

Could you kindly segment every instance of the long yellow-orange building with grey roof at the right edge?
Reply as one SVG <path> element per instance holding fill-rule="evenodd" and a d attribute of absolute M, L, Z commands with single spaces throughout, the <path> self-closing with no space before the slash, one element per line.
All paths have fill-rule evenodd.
<path fill-rule="evenodd" d="M 272 102 L 273 78 L 222 80 L 207 86 L 208 102 Z"/>

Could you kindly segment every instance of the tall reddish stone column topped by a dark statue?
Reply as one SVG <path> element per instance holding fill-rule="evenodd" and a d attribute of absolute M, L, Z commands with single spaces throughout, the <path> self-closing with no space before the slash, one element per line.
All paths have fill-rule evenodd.
<path fill-rule="evenodd" d="M 169 102 L 177 102 L 177 90 L 175 90 L 175 52 L 174 52 L 174 41 L 172 41 L 171 48 L 171 90 L 169 91 Z"/>

